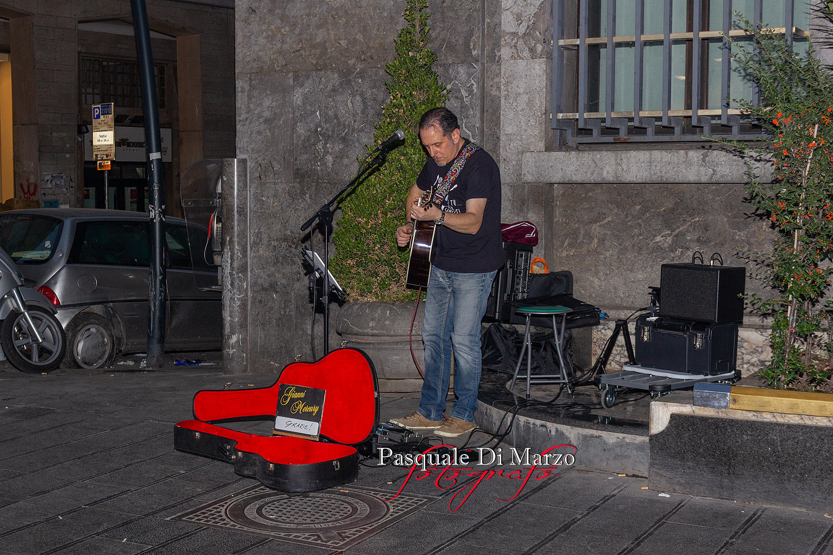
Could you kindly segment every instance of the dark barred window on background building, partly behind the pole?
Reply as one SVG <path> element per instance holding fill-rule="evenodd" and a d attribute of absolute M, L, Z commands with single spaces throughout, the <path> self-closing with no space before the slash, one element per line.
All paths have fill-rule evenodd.
<path fill-rule="evenodd" d="M 154 64 L 159 109 L 167 108 L 165 66 Z M 139 62 L 81 57 L 81 102 L 100 104 L 115 102 L 117 107 L 142 107 L 142 82 Z"/>

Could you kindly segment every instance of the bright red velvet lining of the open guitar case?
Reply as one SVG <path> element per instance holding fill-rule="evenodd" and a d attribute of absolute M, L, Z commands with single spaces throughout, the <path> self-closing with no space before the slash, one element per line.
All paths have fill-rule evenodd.
<path fill-rule="evenodd" d="M 327 391 L 321 423 L 321 434 L 327 438 L 341 444 L 360 444 L 373 433 L 377 424 L 376 382 L 365 355 L 355 349 L 337 349 L 313 363 L 289 364 L 283 369 L 277 382 L 268 388 L 200 391 L 194 396 L 194 417 L 202 420 L 202 423 L 256 416 L 274 418 L 277 412 L 278 389 L 281 384 L 302 385 Z M 180 424 L 191 424 L 191 422 L 193 421 Z M 197 429 L 192 425 L 183 427 Z M 217 426 L 213 428 L 222 430 L 222 433 L 218 434 L 217 431 L 207 433 L 222 435 L 229 439 L 237 439 L 232 437 L 232 434 L 239 434 L 227 428 Z M 260 437 L 250 436 L 250 434 L 242 435 Z M 285 447 L 281 449 L 286 454 L 288 448 L 292 447 L 291 444 L 283 445 Z M 320 444 L 313 445 L 320 447 Z M 239 444 L 237 448 L 241 449 Z M 255 452 L 258 453 L 258 451 Z"/>

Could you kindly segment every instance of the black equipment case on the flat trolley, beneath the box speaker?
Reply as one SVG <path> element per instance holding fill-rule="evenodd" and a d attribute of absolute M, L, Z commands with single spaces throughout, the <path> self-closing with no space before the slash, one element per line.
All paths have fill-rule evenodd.
<path fill-rule="evenodd" d="M 734 372 L 737 324 L 708 324 L 642 315 L 636 319 L 636 364 L 686 374 Z"/>

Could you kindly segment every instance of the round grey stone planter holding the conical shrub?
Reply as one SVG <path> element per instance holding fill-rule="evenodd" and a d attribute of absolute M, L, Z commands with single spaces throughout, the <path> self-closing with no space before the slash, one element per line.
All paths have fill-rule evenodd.
<path fill-rule="evenodd" d="M 422 378 L 414 366 L 408 334 L 416 301 L 383 303 L 358 301 L 338 311 L 335 330 L 348 347 L 362 349 L 372 359 L 383 392 L 409 393 L 422 389 Z M 413 349 L 420 368 L 425 369 L 422 349 L 423 304 L 420 303 L 413 328 Z"/>

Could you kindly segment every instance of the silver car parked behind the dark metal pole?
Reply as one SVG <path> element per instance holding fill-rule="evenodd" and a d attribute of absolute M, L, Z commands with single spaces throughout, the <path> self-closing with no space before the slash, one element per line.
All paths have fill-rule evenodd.
<path fill-rule="evenodd" d="M 165 235 L 165 349 L 220 349 L 220 288 L 197 287 L 216 284 L 217 268 L 192 257 L 184 220 L 167 218 Z M 2 212 L 0 248 L 12 256 L 24 285 L 46 295 L 57 310 L 67 332 L 68 362 L 99 368 L 111 365 L 117 351 L 146 351 L 147 214 L 84 208 Z"/>

